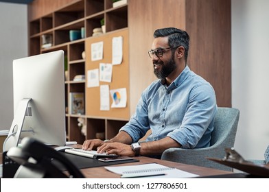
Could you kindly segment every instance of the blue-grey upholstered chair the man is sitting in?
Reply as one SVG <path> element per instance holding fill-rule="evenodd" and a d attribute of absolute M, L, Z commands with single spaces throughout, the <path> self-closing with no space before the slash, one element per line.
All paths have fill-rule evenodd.
<path fill-rule="evenodd" d="M 211 167 L 224 171 L 232 171 L 231 167 L 226 167 L 225 165 L 215 163 L 208 160 L 207 157 L 224 158 L 224 149 L 226 147 L 233 147 L 235 143 L 238 121 L 238 109 L 219 107 L 215 115 L 214 130 L 211 134 L 210 147 L 197 149 L 173 147 L 166 149 L 163 152 L 161 159 L 189 165 Z"/>

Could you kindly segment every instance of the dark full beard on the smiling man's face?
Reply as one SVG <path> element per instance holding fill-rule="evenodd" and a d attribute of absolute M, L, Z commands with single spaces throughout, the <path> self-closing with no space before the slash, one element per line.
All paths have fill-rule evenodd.
<path fill-rule="evenodd" d="M 164 79 L 176 69 L 176 63 L 174 62 L 174 58 L 171 58 L 171 60 L 169 60 L 169 62 L 167 62 L 166 64 L 163 61 L 160 61 L 158 64 L 161 65 L 161 71 L 159 71 L 158 69 L 155 69 L 154 64 L 153 64 L 153 69 L 154 69 L 154 74 L 159 79 Z"/>

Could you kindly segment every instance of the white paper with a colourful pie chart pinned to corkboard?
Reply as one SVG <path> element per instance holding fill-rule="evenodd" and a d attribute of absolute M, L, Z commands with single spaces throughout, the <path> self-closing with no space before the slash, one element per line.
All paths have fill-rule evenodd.
<path fill-rule="evenodd" d="M 126 88 L 117 88 L 110 90 L 110 95 L 113 99 L 111 108 L 126 108 L 127 93 Z"/>

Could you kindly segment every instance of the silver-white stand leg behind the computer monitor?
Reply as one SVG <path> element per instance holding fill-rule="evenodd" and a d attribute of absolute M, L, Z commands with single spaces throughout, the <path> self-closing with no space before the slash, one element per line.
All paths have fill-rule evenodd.
<path fill-rule="evenodd" d="M 30 101 L 31 98 L 24 98 L 19 102 L 18 108 L 14 113 L 14 119 L 10 127 L 10 132 L 8 133 L 8 137 L 3 143 L 3 152 L 8 151 L 11 147 L 18 146 L 21 132 L 23 130 L 23 121 L 25 119 L 25 115 L 29 113 L 27 106 Z"/>

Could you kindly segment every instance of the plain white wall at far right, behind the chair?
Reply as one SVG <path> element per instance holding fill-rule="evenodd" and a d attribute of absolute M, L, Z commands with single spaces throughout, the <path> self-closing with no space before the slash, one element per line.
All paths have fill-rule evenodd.
<path fill-rule="evenodd" d="M 264 159 L 269 145 L 269 1 L 232 0 L 232 106 L 240 118 L 235 149 Z"/>

